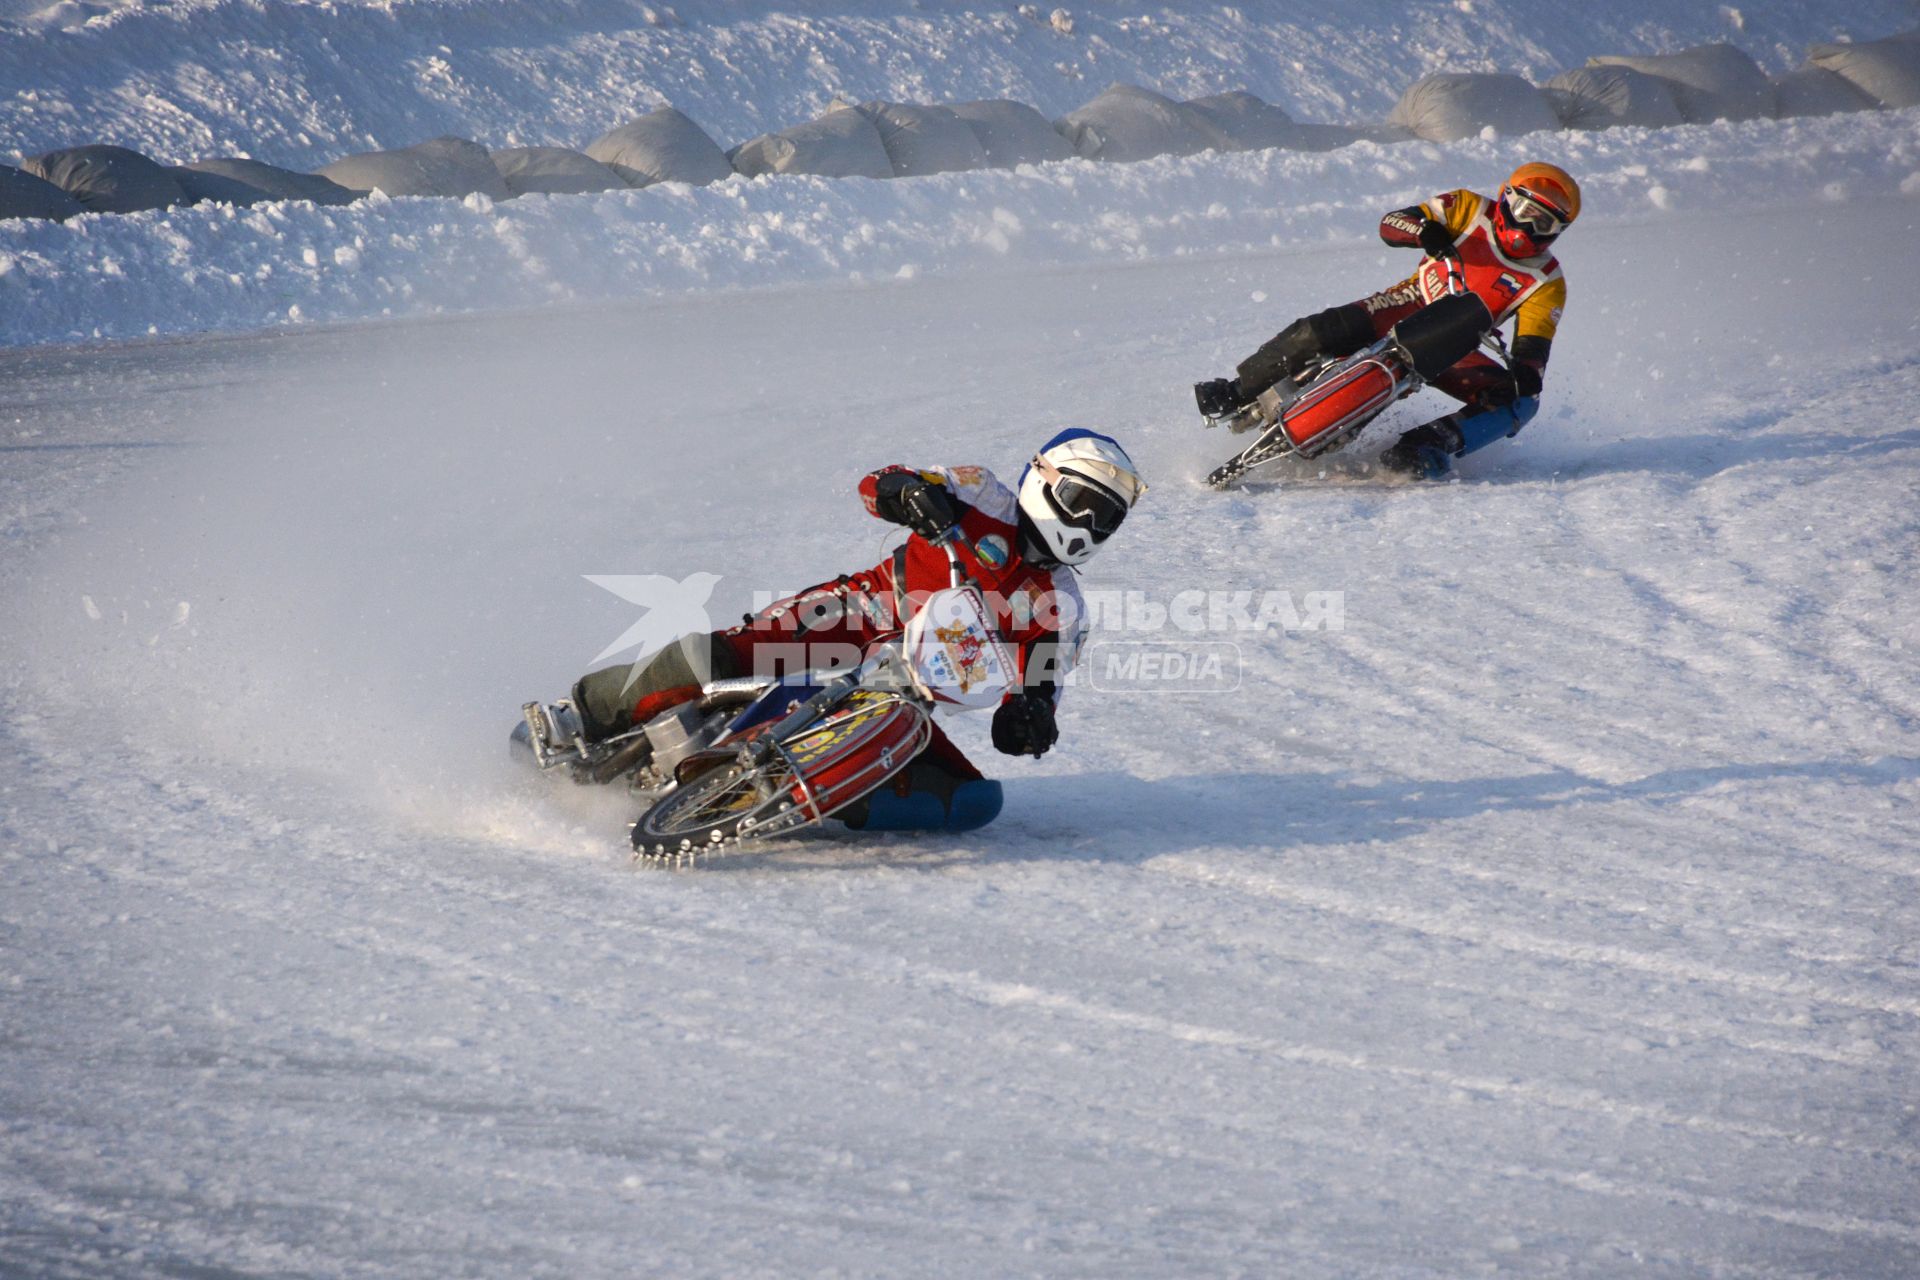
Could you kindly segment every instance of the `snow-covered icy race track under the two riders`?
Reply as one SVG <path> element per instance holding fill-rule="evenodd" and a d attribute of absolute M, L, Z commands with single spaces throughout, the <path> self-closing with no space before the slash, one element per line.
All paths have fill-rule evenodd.
<path fill-rule="evenodd" d="M 0 355 L 0 1270 L 1914 1274 L 1914 223 L 1582 226 L 1438 487 L 1194 484 L 1352 244 Z M 634 871 L 501 760 L 582 574 L 730 612 L 1064 422 L 1091 589 L 1344 629 L 966 839 Z"/>

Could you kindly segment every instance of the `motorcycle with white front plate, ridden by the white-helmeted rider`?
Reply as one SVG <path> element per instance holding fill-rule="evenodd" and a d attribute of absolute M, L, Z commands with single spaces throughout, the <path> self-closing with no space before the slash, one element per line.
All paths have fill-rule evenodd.
<path fill-rule="evenodd" d="M 927 748 L 935 708 L 993 708 L 1020 681 L 960 558 L 979 553 L 958 530 L 943 549 L 950 585 L 854 668 L 708 681 L 699 699 L 626 733 L 561 748 L 543 743 L 534 727 L 540 704 L 530 702 L 515 750 L 582 783 L 624 777 L 647 806 L 632 827 L 634 860 L 655 865 L 697 865 L 745 841 L 845 816 Z M 972 825 L 998 812 L 991 787 L 993 812 Z"/>

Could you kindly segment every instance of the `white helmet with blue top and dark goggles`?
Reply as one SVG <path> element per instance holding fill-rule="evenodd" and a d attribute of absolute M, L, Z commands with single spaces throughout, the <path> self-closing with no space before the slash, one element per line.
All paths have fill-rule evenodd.
<path fill-rule="evenodd" d="M 1069 428 L 1020 472 L 1020 526 L 1029 555 L 1056 564 L 1085 564 L 1127 518 L 1146 482 L 1119 441 Z"/>

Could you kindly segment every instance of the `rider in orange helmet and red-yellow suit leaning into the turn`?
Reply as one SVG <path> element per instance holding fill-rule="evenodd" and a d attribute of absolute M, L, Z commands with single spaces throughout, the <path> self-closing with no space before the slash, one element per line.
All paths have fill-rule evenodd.
<path fill-rule="evenodd" d="M 1538 413 L 1548 353 L 1567 305 L 1567 280 L 1548 249 L 1576 217 L 1580 184 L 1546 163 L 1515 169 L 1494 200 L 1459 188 L 1394 209 L 1380 219 L 1380 240 L 1421 248 L 1428 261 L 1388 290 L 1294 320 L 1240 361 L 1233 378 L 1196 384 L 1200 413 L 1233 413 L 1321 357 L 1346 357 L 1384 338 L 1405 317 L 1446 297 L 1440 259 L 1453 257 L 1467 288 L 1494 313 L 1494 324 L 1515 322 L 1513 372 L 1475 351 L 1434 380 L 1465 409 L 1409 430 L 1380 455 L 1390 470 L 1446 476 L 1453 459 L 1517 434 Z"/>

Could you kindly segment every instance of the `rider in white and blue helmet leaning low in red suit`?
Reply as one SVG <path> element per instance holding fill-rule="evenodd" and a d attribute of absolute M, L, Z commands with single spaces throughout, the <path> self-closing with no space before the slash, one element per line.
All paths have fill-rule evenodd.
<path fill-rule="evenodd" d="M 891 557 L 776 601 L 735 628 L 591 672 L 530 718 L 534 731 L 547 750 L 564 752 L 576 735 L 597 743 L 697 699 L 703 681 L 852 666 L 950 583 L 945 543 L 958 528 L 975 547 L 968 570 L 1020 666 L 1020 685 L 993 712 L 993 745 L 1008 756 L 1041 756 L 1058 737 L 1062 677 L 1085 631 L 1073 566 L 1100 551 L 1144 491 L 1116 439 L 1079 428 L 1048 439 L 1016 489 L 983 466 L 885 466 L 860 480 L 860 497 L 874 516 L 908 528 Z M 895 783 L 835 818 L 856 829 L 968 829 L 998 812 L 998 783 L 935 725 Z"/>

